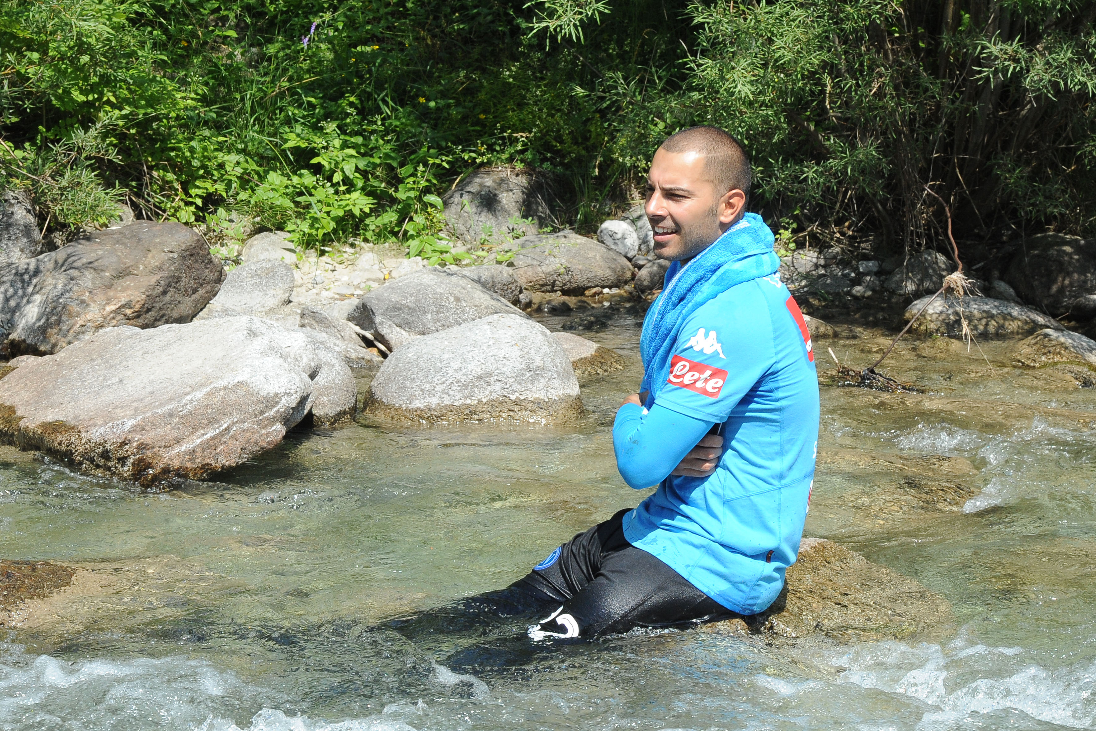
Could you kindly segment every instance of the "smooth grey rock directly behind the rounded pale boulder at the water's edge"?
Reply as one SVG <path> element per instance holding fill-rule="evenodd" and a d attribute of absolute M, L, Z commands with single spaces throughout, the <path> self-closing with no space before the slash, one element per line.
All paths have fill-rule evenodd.
<path fill-rule="evenodd" d="M 420 335 L 503 313 L 525 317 L 472 279 L 431 267 L 369 292 L 346 319 L 395 351 Z"/>

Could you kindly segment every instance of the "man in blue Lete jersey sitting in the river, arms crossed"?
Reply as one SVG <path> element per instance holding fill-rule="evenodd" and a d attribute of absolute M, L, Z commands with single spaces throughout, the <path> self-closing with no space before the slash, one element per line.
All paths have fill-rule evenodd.
<path fill-rule="evenodd" d="M 745 213 L 750 162 L 693 127 L 654 153 L 647 217 L 672 263 L 647 312 L 644 376 L 617 411 L 617 467 L 635 510 L 579 534 L 513 584 L 558 608 L 534 639 L 764 610 L 796 560 L 814 475 L 811 338 L 777 275 L 773 233 Z"/>

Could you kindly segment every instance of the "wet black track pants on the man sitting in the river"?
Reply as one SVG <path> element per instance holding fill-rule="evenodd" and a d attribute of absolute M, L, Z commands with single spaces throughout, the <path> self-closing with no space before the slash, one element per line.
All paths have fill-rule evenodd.
<path fill-rule="evenodd" d="M 586 638 L 738 616 L 629 544 L 621 523 L 627 512 L 580 533 L 511 589 L 561 603 L 560 614 L 573 617 Z"/>

